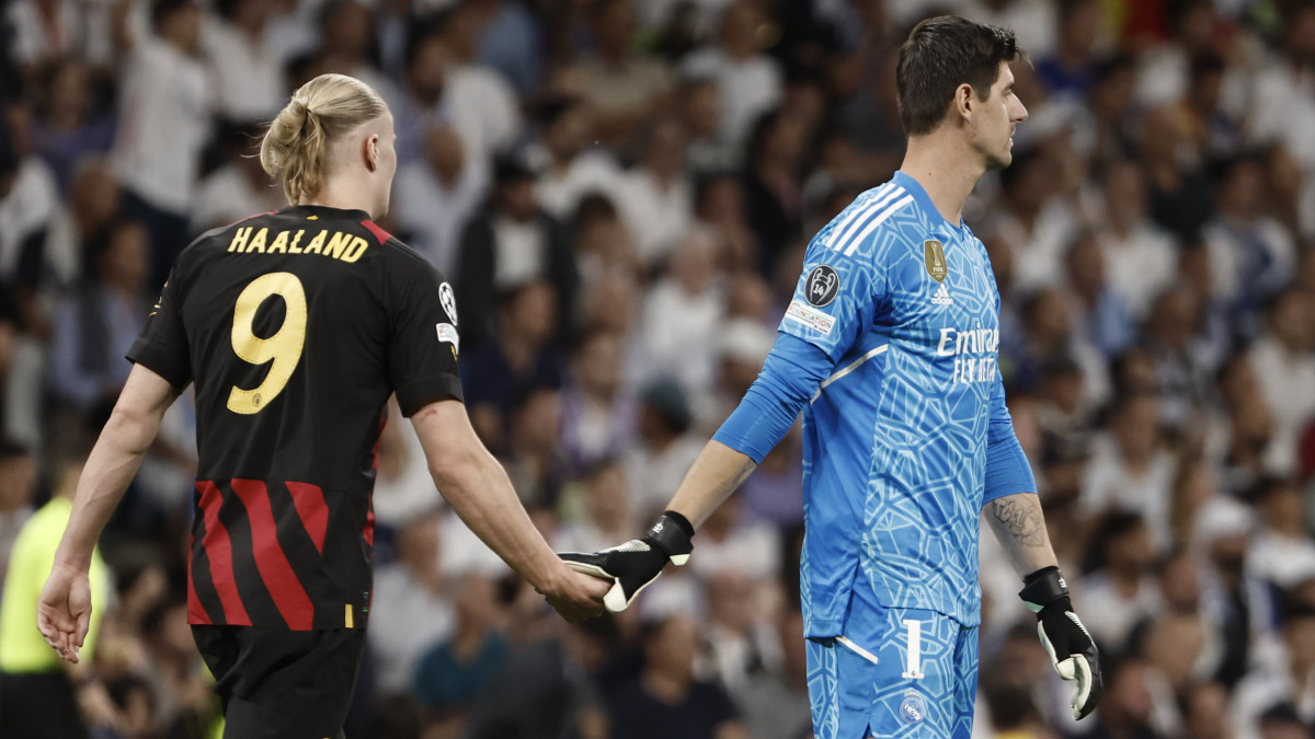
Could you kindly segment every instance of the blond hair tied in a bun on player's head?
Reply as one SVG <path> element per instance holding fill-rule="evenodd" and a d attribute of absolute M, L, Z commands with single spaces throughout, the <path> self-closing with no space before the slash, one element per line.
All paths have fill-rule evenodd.
<path fill-rule="evenodd" d="M 388 112 L 368 84 L 327 74 L 297 88 L 270 122 L 260 142 L 260 166 L 283 181 L 288 203 L 314 196 L 323 187 L 329 145 L 366 121 Z"/>

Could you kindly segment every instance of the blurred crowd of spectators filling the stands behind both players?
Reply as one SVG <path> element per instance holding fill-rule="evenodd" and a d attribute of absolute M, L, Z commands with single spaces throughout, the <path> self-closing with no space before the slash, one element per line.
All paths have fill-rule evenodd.
<path fill-rule="evenodd" d="M 898 45 L 944 11 L 1030 55 L 1014 163 L 965 216 L 1106 680 L 1070 721 L 988 534 L 974 736 L 1310 736 L 1310 0 L 0 0 L 0 572 L 174 256 L 284 205 L 260 124 L 327 71 L 389 101 L 380 222 L 452 280 L 468 410 L 544 535 L 636 535 L 753 381 L 807 238 L 898 167 Z M 97 738 L 213 731 L 189 402 L 103 540 Z M 405 426 L 379 448 L 347 736 L 811 736 L 797 429 L 688 568 L 568 627 L 444 509 Z"/>

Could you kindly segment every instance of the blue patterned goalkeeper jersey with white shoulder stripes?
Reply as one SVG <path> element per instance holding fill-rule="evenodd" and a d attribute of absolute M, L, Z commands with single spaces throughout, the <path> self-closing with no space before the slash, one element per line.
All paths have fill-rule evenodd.
<path fill-rule="evenodd" d="M 780 331 L 832 363 L 803 412 L 805 634 L 857 636 L 851 604 L 977 625 L 986 489 L 1036 489 L 1005 406 L 981 241 L 897 172 L 813 238 Z M 988 485 L 992 444 L 1013 450 L 1006 484 Z"/>

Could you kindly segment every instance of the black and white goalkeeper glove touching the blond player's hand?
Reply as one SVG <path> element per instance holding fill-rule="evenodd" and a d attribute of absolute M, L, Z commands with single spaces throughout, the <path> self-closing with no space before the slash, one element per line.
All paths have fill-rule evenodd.
<path fill-rule="evenodd" d="M 559 552 L 558 556 L 571 569 L 611 580 L 611 589 L 602 605 L 611 613 L 621 613 L 640 590 L 658 579 L 667 563 L 681 565 L 689 561 L 694 546 L 689 539 L 694 527 L 689 521 L 668 510 L 648 529 L 643 539 L 631 539 L 618 547 L 593 554 Z"/>

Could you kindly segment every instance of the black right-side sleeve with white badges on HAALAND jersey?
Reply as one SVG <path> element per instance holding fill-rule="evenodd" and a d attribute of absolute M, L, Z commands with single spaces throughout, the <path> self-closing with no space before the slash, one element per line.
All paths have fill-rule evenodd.
<path fill-rule="evenodd" d="M 389 381 L 402 414 L 410 417 L 437 400 L 462 400 L 452 285 L 433 264 L 405 247 L 388 250 L 384 281 L 391 333 Z"/>

